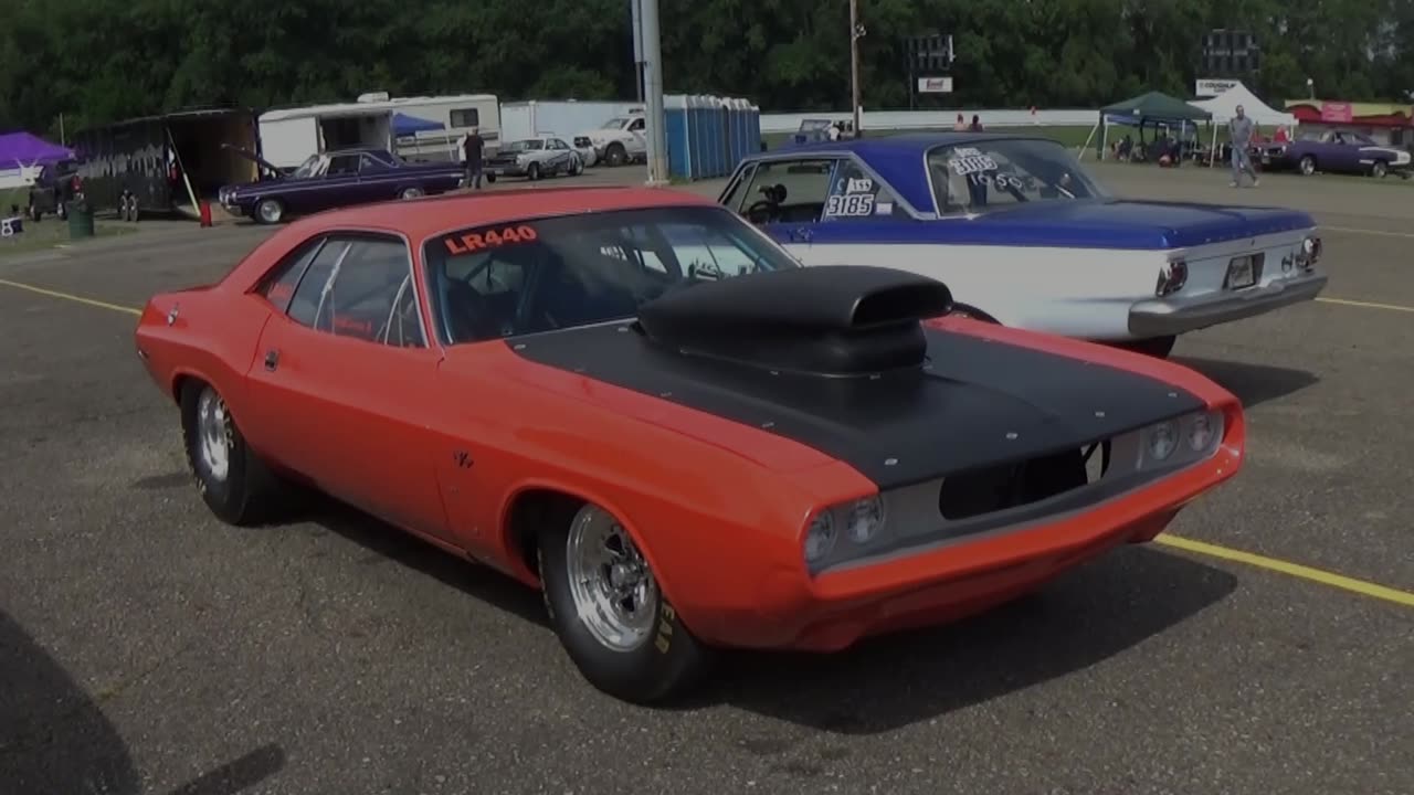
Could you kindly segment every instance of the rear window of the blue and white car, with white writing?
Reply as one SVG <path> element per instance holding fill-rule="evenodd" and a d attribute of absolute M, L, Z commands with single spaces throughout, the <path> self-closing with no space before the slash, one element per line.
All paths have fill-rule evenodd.
<path fill-rule="evenodd" d="M 928 177 L 940 215 L 1109 197 L 1065 146 L 1035 139 L 936 147 L 928 153 Z"/>

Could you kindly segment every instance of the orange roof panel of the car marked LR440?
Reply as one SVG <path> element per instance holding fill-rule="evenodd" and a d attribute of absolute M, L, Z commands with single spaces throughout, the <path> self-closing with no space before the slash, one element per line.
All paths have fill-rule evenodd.
<path fill-rule="evenodd" d="M 339 228 L 385 229 L 419 242 L 468 226 L 546 215 L 573 215 L 653 207 L 717 207 L 697 194 L 648 187 L 512 188 L 395 199 L 320 212 L 296 221 L 301 236 Z"/>

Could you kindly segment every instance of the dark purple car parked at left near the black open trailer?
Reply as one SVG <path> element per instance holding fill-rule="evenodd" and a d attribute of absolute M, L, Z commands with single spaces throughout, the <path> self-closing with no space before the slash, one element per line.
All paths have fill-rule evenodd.
<path fill-rule="evenodd" d="M 262 180 L 221 188 L 221 205 L 235 215 L 279 224 L 303 215 L 395 198 L 455 190 L 461 163 L 407 163 L 382 149 L 344 149 L 311 154 L 294 171 L 276 168 L 259 154 L 228 147 L 255 160 Z"/>

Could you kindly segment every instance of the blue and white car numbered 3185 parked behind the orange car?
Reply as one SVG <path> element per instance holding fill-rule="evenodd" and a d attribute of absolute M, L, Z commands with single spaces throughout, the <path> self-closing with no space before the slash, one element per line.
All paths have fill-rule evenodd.
<path fill-rule="evenodd" d="M 1165 356 L 1179 334 L 1314 298 L 1305 212 L 1111 197 L 1062 144 L 928 133 L 742 160 L 721 204 L 803 265 L 947 283 L 978 320 Z"/>

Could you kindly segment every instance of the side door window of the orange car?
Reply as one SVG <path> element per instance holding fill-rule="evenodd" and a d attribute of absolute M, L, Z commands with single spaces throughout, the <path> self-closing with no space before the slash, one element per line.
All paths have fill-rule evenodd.
<path fill-rule="evenodd" d="M 407 246 L 335 236 L 314 256 L 290 318 L 315 331 L 395 347 L 426 347 Z"/>

